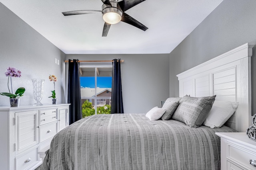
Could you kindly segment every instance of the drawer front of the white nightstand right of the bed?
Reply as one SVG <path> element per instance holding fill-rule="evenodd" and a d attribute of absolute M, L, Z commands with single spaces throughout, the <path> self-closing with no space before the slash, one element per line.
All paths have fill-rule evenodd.
<path fill-rule="evenodd" d="M 228 143 L 228 159 L 233 162 L 239 162 L 244 166 L 243 169 L 256 170 L 256 167 L 250 164 L 250 159 L 256 160 L 256 152 L 253 149 L 244 147 L 242 145 L 227 142 Z"/>

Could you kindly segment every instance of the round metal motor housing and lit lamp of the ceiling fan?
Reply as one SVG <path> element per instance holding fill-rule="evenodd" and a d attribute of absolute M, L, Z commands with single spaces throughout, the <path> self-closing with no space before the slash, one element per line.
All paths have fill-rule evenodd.
<path fill-rule="evenodd" d="M 122 18 L 122 9 L 116 1 L 110 1 L 110 5 L 102 5 L 102 16 L 103 20 L 110 24 L 115 24 L 121 21 Z"/>

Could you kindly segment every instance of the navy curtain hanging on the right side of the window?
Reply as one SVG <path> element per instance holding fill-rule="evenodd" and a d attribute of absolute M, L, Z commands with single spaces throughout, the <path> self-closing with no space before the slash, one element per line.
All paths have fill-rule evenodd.
<path fill-rule="evenodd" d="M 113 59 L 111 114 L 112 113 L 124 113 L 120 59 Z"/>

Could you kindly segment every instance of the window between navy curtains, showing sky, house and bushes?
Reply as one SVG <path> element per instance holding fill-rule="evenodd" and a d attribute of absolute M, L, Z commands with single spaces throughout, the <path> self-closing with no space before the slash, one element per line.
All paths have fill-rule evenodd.
<path fill-rule="evenodd" d="M 112 94 L 111 66 L 80 66 L 82 114 L 110 114 Z"/>

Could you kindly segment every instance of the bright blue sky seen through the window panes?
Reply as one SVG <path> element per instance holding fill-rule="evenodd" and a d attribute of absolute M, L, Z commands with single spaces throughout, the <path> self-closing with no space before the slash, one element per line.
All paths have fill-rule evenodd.
<path fill-rule="evenodd" d="M 95 77 L 80 77 L 81 88 L 95 88 Z M 111 88 L 112 77 L 97 77 L 97 87 Z"/>

